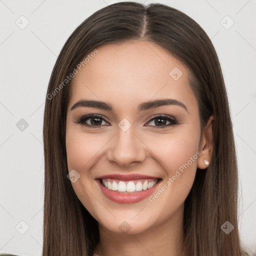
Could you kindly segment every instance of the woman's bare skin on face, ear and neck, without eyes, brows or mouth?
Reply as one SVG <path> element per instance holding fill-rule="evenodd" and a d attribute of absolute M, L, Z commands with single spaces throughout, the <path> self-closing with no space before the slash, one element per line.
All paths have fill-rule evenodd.
<path fill-rule="evenodd" d="M 99 225 L 100 242 L 93 255 L 180 255 L 184 200 L 196 168 L 206 167 L 204 159 L 210 162 L 213 117 L 200 134 L 189 70 L 160 46 L 133 41 L 106 44 L 98 50 L 72 80 L 66 120 L 68 171 L 75 169 L 80 174 L 71 184 Z M 174 67 L 182 71 L 178 80 L 169 75 Z M 178 105 L 137 111 L 138 104 L 161 98 L 179 100 L 187 111 Z M 80 99 L 108 102 L 113 110 L 70 110 Z M 75 123 L 87 114 L 101 115 L 106 121 L 100 119 L 101 126 L 96 128 Z M 157 114 L 174 116 L 179 124 L 166 126 L 170 122 L 164 119 L 166 127 L 159 128 L 161 124 L 152 119 Z M 118 126 L 123 118 L 131 123 L 126 131 Z M 93 118 L 86 123 L 91 121 Z M 148 197 L 136 203 L 113 202 L 95 181 L 104 174 L 140 173 L 160 177 L 160 188 L 196 151 L 201 154 L 153 202 Z M 130 226 L 127 233 L 118 228 L 123 221 Z"/>

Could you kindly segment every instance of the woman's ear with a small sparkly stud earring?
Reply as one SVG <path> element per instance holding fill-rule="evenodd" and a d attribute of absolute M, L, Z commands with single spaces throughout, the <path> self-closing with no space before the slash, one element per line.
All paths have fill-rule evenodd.
<path fill-rule="evenodd" d="M 204 126 L 201 135 L 201 142 L 199 145 L 199 151 L 201 154 L 197 158 L 197 167 L 199 169 L 205 169 L 210 164 L 210 157 L 212 152 L 212 141 L 213 141 L 213 128 L 214 128 L 214 117 L 211 115 Z M 204 160 L 206 161 L 206 164 Z M 208 162 L 208 164 L 207 164 Z"/>

